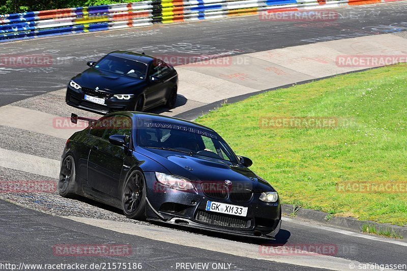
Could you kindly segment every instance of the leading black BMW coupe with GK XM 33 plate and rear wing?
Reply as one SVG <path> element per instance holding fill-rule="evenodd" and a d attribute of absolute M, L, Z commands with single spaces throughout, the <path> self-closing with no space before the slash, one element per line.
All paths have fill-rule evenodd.
<path fill-rule="evenodd" d="M 139 220 L 264 238 L 279 231 L 277 192 L 214 130 L 129 111 L 88 121 L 64 149 L 61 196 L 89 197 Z"/>

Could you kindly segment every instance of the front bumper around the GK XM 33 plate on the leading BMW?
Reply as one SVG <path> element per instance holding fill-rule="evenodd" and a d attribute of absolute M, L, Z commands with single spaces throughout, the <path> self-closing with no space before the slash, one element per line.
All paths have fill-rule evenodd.
<path fill-rule="evenodd" d="M 217 199 L 203 192 L 188 193 L 171 189 L 157 182 L 153 172 L 144 172 L 147 180 L 147 199 L 150 220 L 182 226 L 224 232 L 234 235 L 274 238 L 281 226 L 279 201 L 266 203 L 254 193 L 247 202 Z M 246 217 L 232 216 L 206 210 L 208 201 L 248 207 Z"/>

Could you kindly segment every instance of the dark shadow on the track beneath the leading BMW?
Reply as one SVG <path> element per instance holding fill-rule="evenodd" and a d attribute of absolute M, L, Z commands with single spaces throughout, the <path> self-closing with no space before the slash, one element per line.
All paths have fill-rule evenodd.
<path fill-rule="evenodd" d="M 107 210 L 109 212 L 121 215 L 121 216 L 123 216 L 123 219 L 126 218 L 121 209 L 97 202 L 97 201 L 89 199 L 89 198 L 85 198 L 82 196 L 75 196 L 74 199 L 87 203 L 87 204 L 90 204 L 92 206 Z M 195 233 L 195 234 L 199 234 L 199 235 L 205 235 L 205 236 L 232 240 L 235 242 L 241 242 L 241 243 L 253 244 L 253 245 L 282 246 L 285 243 L 287 243 L 287 241 L 291 235 L 291 233 L 289 231 L 280 229 L 279 233 L 275 236 L 275 240 L 273 240 L 273 239 L 267 239 L 267 238 L 230 235 L 230 234 L 225 234 L 225 233 L 220 233 L 220 232 L 213 232 L 213 231 L 207 231 L 207 230 L 202 230 L 202 229 L 189 228 L 189 227 L 182 226 L 182 225 L 167 224 L 164 222 L 149 221 L 149 222 L 144 222 L 144 223 L 150 224 L 151 226 L 161 226 L 161 227 L 165 227 L 168 229 L 176 229 L 176 230 Z"/>

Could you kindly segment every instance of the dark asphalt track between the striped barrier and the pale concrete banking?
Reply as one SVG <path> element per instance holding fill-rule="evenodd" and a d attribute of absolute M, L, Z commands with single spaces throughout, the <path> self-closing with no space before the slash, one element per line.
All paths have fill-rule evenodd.
<path fill-rule="evenodd" d="M 237 55 L 407 29 L 405 2 L 329 9 L 333 19 L 271 20 L 260 16 L 127 28 L 0 44 L 3 56 L 45 54 L 52 65 L 0 65 L 0 106 L 66 87 L 68 80 L 108 52 L 162 55 Z M 2 63 L 0 63 L 2 64 Z"/>

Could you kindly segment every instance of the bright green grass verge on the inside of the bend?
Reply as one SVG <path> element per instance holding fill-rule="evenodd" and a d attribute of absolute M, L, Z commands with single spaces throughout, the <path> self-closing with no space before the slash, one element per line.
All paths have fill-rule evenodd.
<path fill-rule="evenodd" d="M 407 65 L 400 64 L 226 103 L 197 122 L 251 158 L 251 169 L 277 189 L 283 203 L 406 225 L 406 97 Z M 336 123 L 330 129 L 270 128 L 279 117 Z"/>

